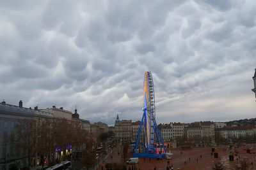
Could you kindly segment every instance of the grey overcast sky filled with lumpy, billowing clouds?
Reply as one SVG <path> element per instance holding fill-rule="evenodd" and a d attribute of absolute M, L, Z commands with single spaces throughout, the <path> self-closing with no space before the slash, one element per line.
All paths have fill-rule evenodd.
<path fill-rule="evenodd" d="M 0 0 L 0 97 L 140 120 L 152 71 L 157 122 L 256 117 L 256 1 Z"/>

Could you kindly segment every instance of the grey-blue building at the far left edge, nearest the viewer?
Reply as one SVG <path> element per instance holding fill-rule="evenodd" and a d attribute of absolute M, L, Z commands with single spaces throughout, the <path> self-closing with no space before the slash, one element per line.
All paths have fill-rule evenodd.
<path fill-rule="evenodd" d="M 28 160 L 20 148 L 15 147 L 15 127 L 20 120 L 33 118 L 34 111 L 24 108 L 22 101 L 19 106 L 0 103 L 0 169 L 8 170 L 10 164 L 17 164 L 19 168 L 27 167 Z"/>

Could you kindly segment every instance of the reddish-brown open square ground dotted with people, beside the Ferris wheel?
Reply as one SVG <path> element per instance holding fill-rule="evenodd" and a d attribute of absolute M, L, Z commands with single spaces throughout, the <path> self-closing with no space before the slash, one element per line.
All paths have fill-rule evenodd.
<path fill-rule="evenodd" d="M 256 153 L 246 153 L 247 146 L 243 146 L 241 148 L 237 148 L 234 156 L 234 161 L 228 160 L 228 146 L 220 146 L 218 148 L 219 158 L 214 159 L 211 155 L 211 148 L 192 148 L 191 150 L 179 150 L 179 149 L 172 149 L 172 153 L 174 153 L 174 159 L 172 160 L 156 160 L 156 159 L 139 159 L 139 164 L 128 165 L 125 164 L 127 169 L 134 169 L 134 170 L 165 170 L 166 166 L 168 166 L 168 161 L 170 166 L 173 166 L 174 169 L 180 170 L 193 170 L 193 169 L 202 169 L 202 170 L 209 170 L 212 169 L 214 165 L 214 161 L 221 161 L 227 169 L 234 169 L 235 164 L 237 164 L 243 158 L 248 158 L 250 162 L 253 162 L 253 165 L 250 166 L 250 170 L 256 169 Z M 108 159 L 104 161 L 97 170 L 101 170 L 102 167 L 106 163 L 124 163 L 124 158 L 122 157 L 122 152 L 118 155 L 118 152 L 121 151 L 121 146 L 118 145 L 113 150 L 113 153 L 109 155 Z M 112 156 L 112 159 L 111 159 Z M 132 153 L 128 154 L 128 158 L 132 157 Z"/>

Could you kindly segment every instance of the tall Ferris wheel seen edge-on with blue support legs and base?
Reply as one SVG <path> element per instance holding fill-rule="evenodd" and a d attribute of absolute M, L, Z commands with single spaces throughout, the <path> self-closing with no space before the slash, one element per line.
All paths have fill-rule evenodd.
<path fill-rule="evenodd" d="M 144 74 L 143 95 L 143 115 L 134 147 L 133 157 L 163 158 L 165 155 L 164 153 L 166 153 L 166 148 L 156 123 L 154 83 L 150 71 L 146 71 Z M 140 141 L 140 139 L 142 140 Z M 155 142 L 157 142 L 158 145 L 156 145 Z M 160 146 L 160 148 L 157 148 L 157 146 Z"/>

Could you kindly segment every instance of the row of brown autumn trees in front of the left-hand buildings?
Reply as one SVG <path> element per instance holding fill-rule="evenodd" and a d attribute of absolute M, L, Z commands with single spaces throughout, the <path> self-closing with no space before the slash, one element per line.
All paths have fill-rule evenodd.
<path fill-rule="evenodd" d="M 53 165 L 78 153 L 84 155 L 93 150 L 88 143 L 93 142 L 78 120 L 31 118 L 15 126 L 15 152 L 27 157 L 29 168 L 36 158 L 43 168 L 45 163 Z"/>

